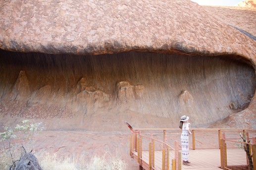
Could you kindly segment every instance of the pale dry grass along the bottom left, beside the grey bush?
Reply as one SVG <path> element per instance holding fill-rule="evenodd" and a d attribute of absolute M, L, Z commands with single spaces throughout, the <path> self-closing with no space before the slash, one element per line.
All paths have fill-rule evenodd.
<path fill-rule="evenodd" d="M 89 161 L 81 156 L 80 161 L 75 158 L 58 157 L 56 154 L 35 153 L 43 170 L 126 170 L 126 163 L 114 156 L 94 156 Z M 85 161 L 81 161 L 85 160 Z M 0 154 L 0 170 L 9 170 L 12 165 L 10 156 Z"/>

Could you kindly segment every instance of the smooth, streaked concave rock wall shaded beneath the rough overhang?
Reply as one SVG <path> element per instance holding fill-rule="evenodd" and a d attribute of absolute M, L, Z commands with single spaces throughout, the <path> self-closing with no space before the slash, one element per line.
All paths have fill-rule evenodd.
<path fill-rule="evenodd" d="M 26 118 L 49 130 L 124 130 L 124 121 L 178 128 L 186 114 L 205 127 L 247 108 L 255 94 L 254 68 L 234 58 L 1 50 L 0 125 Z"/>

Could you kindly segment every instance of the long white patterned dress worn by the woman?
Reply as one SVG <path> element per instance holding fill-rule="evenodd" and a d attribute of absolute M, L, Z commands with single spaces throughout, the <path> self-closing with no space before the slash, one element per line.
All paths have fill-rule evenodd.
<path fill-rule="evenodd" d="M 180 140 L 181 140 L 182 160 L 188 161 L 189 159 L 189 123 L 183 123 Z"/>

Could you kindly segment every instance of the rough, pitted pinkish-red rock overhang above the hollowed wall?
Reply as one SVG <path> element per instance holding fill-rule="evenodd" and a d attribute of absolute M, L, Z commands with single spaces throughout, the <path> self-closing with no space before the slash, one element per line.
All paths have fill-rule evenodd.
<path fill-rule="evenodd" d="M 136 51 L 222 56 L 256 68 L 256 42 L 189 0 L 139 3 L 130 0 L 125 4 L 122 1 L 74 4 L 69 0 L 15 2 L 1 7 L 2 50 L 55 55 Z M 254 105 L 253 100 L 250 108 Z"/>

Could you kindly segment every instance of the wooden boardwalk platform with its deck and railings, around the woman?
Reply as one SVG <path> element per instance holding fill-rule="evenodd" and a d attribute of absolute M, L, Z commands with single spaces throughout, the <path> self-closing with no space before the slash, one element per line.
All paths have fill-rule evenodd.
<path fill-rule="evenodd" d="M 181 147 L 177 135 L 180 134 L 180 129 L 133 129 L 128 122 L 126 124 L 132 132 L 130 155 L 139 163 L 140 170 L 221 170 L 220 167 L 228 170 L 247 170 L 249 162 L 246 152 L 244 149 L 238 149 L 237 143 L 250 146 L 251 152 L 256 153 L 255 129 L 193 129 L 189 154 L 191 164 L 182 165 Z M 166 135 L 167 131 L 168 135 Z M 249 132 L 252 137 L 249 136 Z M 240 138 L 237 136 L 241 134 L 244 138 L 252 139 L 253 142 L 238 141 L 237 139 Z M 167 143 L 167 138 L 172 146 Z M 202 149 L 204 145 L 211 149 Z M 137 151 L 140 155 L 139 159 Z M 253 157 L 250 166 L 256 169 L 256 156 Z"/>

